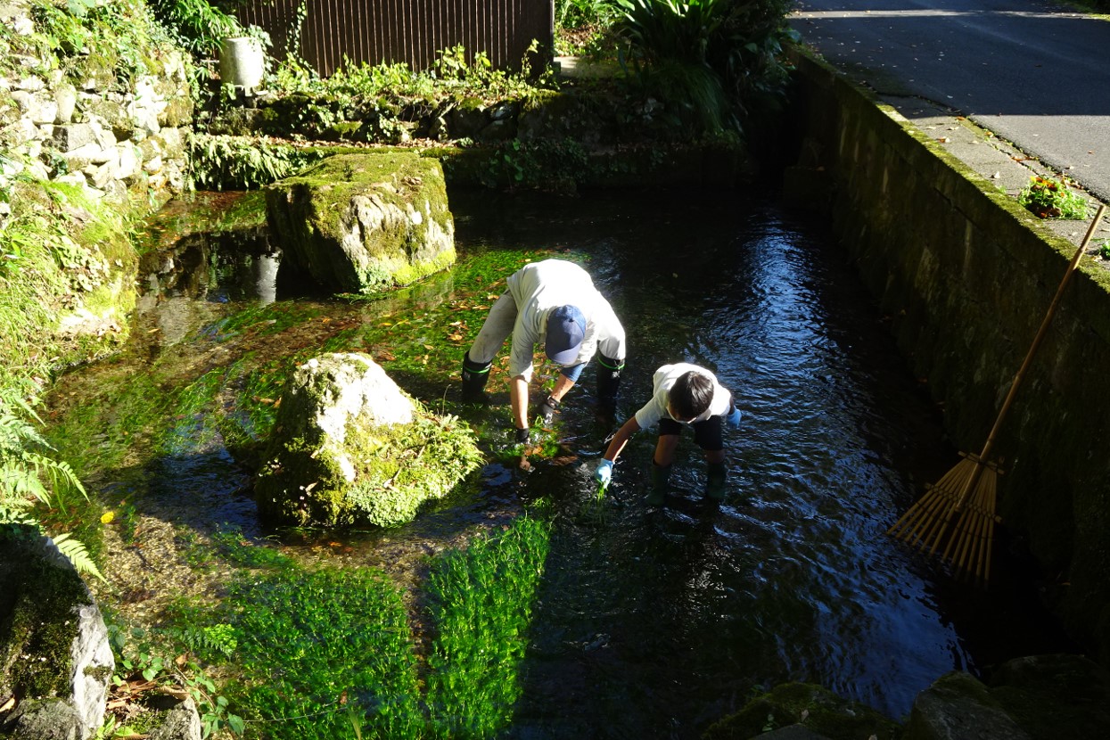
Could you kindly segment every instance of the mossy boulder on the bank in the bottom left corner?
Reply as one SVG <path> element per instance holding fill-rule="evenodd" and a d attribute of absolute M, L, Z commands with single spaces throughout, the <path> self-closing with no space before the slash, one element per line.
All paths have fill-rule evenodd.
<path fill-rule="evenodd" d="M 0 527 L 0 697 L 19 698 L 0 733 L 90 737 L 114 667 L 100 609 L 70 561 L 37 531 Z"/>

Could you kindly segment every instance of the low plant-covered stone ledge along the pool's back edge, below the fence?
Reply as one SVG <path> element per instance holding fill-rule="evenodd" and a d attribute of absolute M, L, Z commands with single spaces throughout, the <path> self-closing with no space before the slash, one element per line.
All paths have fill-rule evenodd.
<path fill-rule="evenodd" d="M 266 170 L 291 172 L 313 151 L 391 146 L 440 159 L 452 186 L 501 190 L 733 187 L 750 181 L 757 169 L 740 136 L 693 141 L 662 107 L 629 100 L 616 89 L 533 90 L 493 101 L 297 93 L 262 98 L 255 105 L 219 111 L 193 138 L 199 181 L 234 189 L 251 181 L 240 160 L 258 162 L 264 178 Z M 282 141 L 310 143 L 282 146 Z M 236 158 L 235 148 L 252 151 Z M 229 163 L 240 171 L 223 172 Z"/>

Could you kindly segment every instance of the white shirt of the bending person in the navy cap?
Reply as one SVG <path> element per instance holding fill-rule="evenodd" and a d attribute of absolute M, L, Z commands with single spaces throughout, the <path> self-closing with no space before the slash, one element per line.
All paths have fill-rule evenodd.
<path fill-rule="evenodd" d="M 564 260 L 544 260 L 525 265 L 508 276 L 508 292 L 516 302 L 513 348 L 508 374 L 532 382 L 532 356 L 543 344 L 547 316 L 559 306 L 576 306 L 586 320 L 586 332 L 575 365 L 587 363 L 601 348 L 614 359 L 625 357 L 624 327 L 608 301 L 594 287 L 589 273 Z"/>

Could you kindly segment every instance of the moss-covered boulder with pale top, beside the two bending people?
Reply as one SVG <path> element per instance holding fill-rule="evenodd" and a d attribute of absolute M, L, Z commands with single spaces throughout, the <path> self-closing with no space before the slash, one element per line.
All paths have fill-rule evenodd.
<path fill-rule="evenodd" d="M 438 417 L 367 355 L 296 368 L 254 491 L 260 515 L 296 526 L 393 526 L 446 496 L 482 460 L 468 427 Z"/>

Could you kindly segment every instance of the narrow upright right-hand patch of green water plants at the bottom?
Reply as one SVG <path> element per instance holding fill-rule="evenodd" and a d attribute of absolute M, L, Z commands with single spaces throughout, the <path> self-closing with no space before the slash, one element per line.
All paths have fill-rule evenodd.
<path fill-rule="evenodd" d="M 521 696 L 535 590 L 551 525 L 519 517 L 502 533 L 438 558 L 428 574 L 436 638 L 428 656 L 433 737 L 492 738 L 505 731 Z"/>

